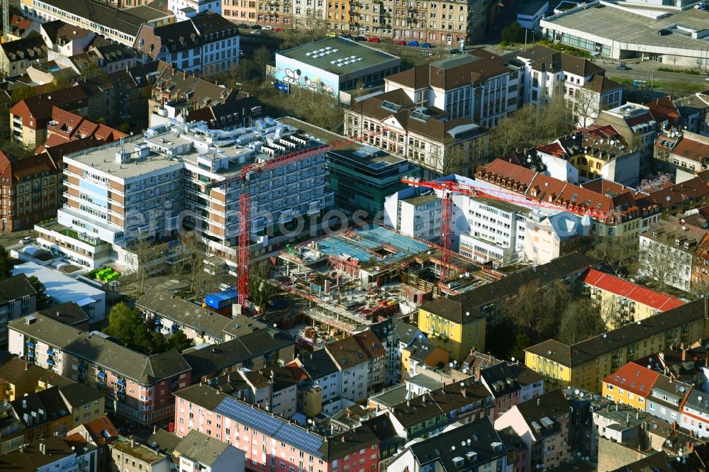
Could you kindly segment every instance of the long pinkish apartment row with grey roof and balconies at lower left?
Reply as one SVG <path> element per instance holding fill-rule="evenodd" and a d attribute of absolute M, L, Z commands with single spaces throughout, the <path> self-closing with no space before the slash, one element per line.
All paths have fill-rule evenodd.
<path fill-rule="evenodd" d="M 190 383 L 177 351 L 147 356 L 39 313 L 14 320 L 8 332 L 10 352 L 99 389 L 107 410 L 142 425 L 172 420 L 172 393 Z"/>

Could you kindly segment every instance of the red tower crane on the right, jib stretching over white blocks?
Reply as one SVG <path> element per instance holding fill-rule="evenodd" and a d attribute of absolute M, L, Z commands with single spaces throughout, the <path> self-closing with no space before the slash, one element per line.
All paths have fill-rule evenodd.
<path fill-rule="evenodd" d="M 562 210 L 569 211 L 571 213 L 576 213 L 578 215 L 589 215 L 595 217 L 603 216 L 605 213 L 588 210 L 586 208 L 570 207 L 557 205 L 555 203 L 545 202 L 545 201 L 533 201 L 525 198 L 525 196 L 519 195 L 518 193 L 512 193 L 503 190 L 488 189 L 481 186 L 476 186 L 474 184 L 461 184 L 454 180 L 432 180 L 432 181 L 421 181 L 420 179 L 415 179 L 411 177 L 404 177 L 401 179 L 404 184 L 408 184 L 414 187 L 425 187 L 427 189 L 434 189 L 441 191 L 441 270 L 439 276 L 439 283 L 442 285 L 449 276 L 450 272 L 450 235 L 451 235 L 451 223 L 453 217 L 453 200 L 452 196 L 454 193 L 459 195 L 468 196 L 479 196 L 484 198 L 490 198 L 492 200 L 505 201 L 508 203 L 516 203 L 520 206 L 536 206 L 538 208 L 549 208 L 552 210 Z"/>

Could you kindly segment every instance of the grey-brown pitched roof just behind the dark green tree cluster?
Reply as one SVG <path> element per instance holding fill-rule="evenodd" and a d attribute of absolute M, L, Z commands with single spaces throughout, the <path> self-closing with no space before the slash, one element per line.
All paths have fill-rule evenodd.
<path fill-rule="evenodd" d="M 223 315 L 157 288 L 150 288 L 135 305 L 140 310 L 189 326 L 216 339 L 224 339 L 223 330 L 231 322 Z"/>

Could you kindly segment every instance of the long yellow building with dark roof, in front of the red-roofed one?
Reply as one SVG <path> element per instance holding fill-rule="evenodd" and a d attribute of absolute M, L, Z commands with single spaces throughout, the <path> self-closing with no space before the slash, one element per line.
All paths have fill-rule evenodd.
<path fill-rule="evenodd" d="M 576 344 L 540 342 L 525 349 L 525 364 L 551 386 L 573 385 L 600 393 L 603 379 L 628 362 L 706 339 L 708 320 L 704 300 L 696 300 Z"/>

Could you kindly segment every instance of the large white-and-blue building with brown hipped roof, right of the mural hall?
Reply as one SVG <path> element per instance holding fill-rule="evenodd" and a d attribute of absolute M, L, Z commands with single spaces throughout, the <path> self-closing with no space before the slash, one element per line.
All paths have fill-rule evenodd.
<path fill-rule="evenodd" d="M 520 84 L 520 72 L 502 57 L 473 50 L 386 77 L 384 91 L 401 89 L 416 106 L 492 127 L 517 110 Z"/>

